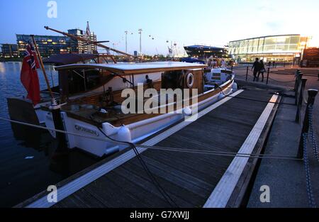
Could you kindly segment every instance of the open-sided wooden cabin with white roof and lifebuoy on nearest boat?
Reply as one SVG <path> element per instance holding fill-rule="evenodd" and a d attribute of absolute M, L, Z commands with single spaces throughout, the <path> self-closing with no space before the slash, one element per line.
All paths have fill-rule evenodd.
<path fill-rule="evenodd" d="M 62 102 L 86 94 L 135 88 L 138 84 L 155 89 L 198 89 L 203 92 L 206 65 L 185 62 L 147 62 L 122 64 L 72 64 L 56 67 Z"/>

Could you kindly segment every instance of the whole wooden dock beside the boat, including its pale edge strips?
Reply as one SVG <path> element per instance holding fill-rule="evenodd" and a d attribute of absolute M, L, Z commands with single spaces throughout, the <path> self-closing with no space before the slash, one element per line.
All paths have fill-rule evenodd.
<path fill-rule="evenodd" d="M 184 150 L 259 153 L 279 101 L 274 91 L 239 90 L 149 138 L 143 145 Z M 236 98 L 237 97 L 237 98 Z M 249 99 L 239 99 L 249 98 Z M 257 101 L 260 100 L 260 101 Z M 138 148 L 140 156 L 170 198 L 181 208 L 240 206 L 256 159 L 198 152 Z M 18 207 L 171 207 L 133 150 L 123 150 L 57 184 L 58 203 L 43 192 Z"/>

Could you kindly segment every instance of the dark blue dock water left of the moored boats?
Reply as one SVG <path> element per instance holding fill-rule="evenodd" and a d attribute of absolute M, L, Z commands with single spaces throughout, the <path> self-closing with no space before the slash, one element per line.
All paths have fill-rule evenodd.
<path fill-rule="evenodd" d="M 57 84 L 57 73 L 46 66 Z M 0 116 L 9 118 L 6 98 L 26 96 L 20 82 L 21 62 L 0 62 Z M 51 75 L 52 73 L 52 75 Z M 41 89 L 43 73 L 38 70 Z M 98 160 L 79 150 L 57 152 L 50 133 L 0 120 L 0 206 L 10 207 L 84 170 Z"/>

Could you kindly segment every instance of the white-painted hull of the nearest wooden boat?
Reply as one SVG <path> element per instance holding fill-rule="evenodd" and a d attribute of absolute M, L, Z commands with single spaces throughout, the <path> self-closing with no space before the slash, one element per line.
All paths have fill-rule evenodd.
<path fill-rule="evenodd" d="M 208 97 L 205 96 L 205 94 L 202 95 L 207 98 L 198 102 L 198 111 L 205 109 L 216 101 L 223 99 L 225 95 L 230 94 L 233 91 L 233 84 L 234 81 L 231 80 L 225 84 L 227 87 L 223 87 L 223 92 L 218 92 L 217 94 L 213 94 L 212 96 Z M 210 92 L 208 91 L 207 95 L 209 95 L 209 93 Z M 102 123 L 101 128 L 98 128 L 90 123 L 69 117 L 64 111 L 61 112 L 61 116 L 65 126 L 65 131 L 72 133 L 67 134 L 67 145 L 71 149 L 79 148 L 85 152 L 89 152 L 93 155 L 101 157 L 103 155 L 110 155 L 113 152 L 118 152 L 128 147 L 128 145 L 118 145 L 103 141 L 103 139 L 105 140 L 108 137 L 112 138 L 113 140 L 127 142 L 127 140 L 123 140 L 123 135 L 119 133 L 121 127 L 112 126 L 110 123 Z M 139 143 L 145 138 L 162 131 L 164 128 L 172 126 L 172 124 L 177 123 L 178 121 L 181 121 L 187 117 L 188 116 L 186 116 L 183 112 L 175 111 L 174 113 L 161 114 L 159 116 L 128 124 L 125 126 L 125 128 L 128 128 L 130 131 L 130 142 Z M 54 126 L 50 113 L 47 113 L 45 121 L 47 126 Z M 51 133 L 52 135 L 55 135 L 55 133 Z M 96 139 L 88 137 L 95 137 Z"/>

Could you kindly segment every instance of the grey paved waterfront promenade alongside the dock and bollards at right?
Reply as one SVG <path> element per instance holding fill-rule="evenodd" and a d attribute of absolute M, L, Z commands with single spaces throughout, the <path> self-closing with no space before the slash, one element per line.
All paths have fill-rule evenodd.
<path fill-rule="evenodd" d="M 282 69 L 280 67 L 279 69 Z M 254 85 L 259 87 L 267 87 L 266 79 L 262 82 L 252 82 L 252 72 L 249 70 L 246 82 L 246 67 L 234 68 L 237 76 L 237 82 L 240 84 Z M 274 69 L 272 69 L 274 71 Z M 267 73 L 265 74 L 267 77 Z M 293 89 L 294 76 L 291 74 L 275 74 L 270 73 L 269 87 L 284 87 Z M 306 89 L 319 89 L 318 76 L 304 76 L 307 78 Z M 291 93 L 290 93 L 291 94 Z M 306 92 L 305 92 L 306 95 Z M 294 103 L 293 98 L 283 96 L 283 103 Z M 301 121 L 305 114 L 305 106 L 303 105 Z M 319 96 L 315 99 L 313 109 L 313 123 L 318 141 L 319 129 Z M 301 123 L 295 122 L 296 106 L 284 105 L 279 109 L 274 118 L 272 131 L 269 134 L 268 142 L 264 148 L 264 154 L 267 155 L 296 155 L 298 143 L 301 136 Z M 308 157 L 310 165 L 310 182 L 313 189 L 313 196 L 319 204 L 319 162 L 316 161 L 313 149 L 308 142 Z M 260 187 L 267 185 L 270 189 L 270 202 L 262 203 L 259 200 Z M 306 172 L 301 161 L 291 160 L 261 160 L 256 177 L 252 183 L 252 190 L 247 200 L 247 207 L 252 208 L 268 208 L 268 207 L 309 207 L 309 200 L 306 189 Z"/>

